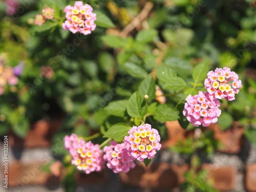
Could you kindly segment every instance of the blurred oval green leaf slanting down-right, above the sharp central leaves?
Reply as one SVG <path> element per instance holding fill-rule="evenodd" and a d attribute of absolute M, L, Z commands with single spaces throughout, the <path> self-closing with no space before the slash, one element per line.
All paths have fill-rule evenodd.
<path fill-rule="evenodd" d="M 147 72 L 143 68 L 137 66 L 133 62 L 125 62 L 123 68 L 133 77 L 145 78 L 148 76 Z"/>

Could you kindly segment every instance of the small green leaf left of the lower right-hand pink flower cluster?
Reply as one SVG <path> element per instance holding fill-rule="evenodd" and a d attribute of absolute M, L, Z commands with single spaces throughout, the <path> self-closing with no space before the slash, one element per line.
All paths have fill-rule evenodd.
<path fill-rule="evenodd" d="M 159 104 L 154 114 L 154 119 L 158 121 L 176 121 L 178 118 L 179 111 L 169 104 Z"/>

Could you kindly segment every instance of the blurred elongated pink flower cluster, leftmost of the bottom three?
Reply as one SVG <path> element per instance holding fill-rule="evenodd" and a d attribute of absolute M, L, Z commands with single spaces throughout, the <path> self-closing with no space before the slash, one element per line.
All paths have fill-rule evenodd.
<path fill-rule="evenodd" d="M 78 139 L 75 134 L 70 137 L 65 136 L 64 144 L 73 158 L 72 164 L 76 165 L 78 170 L 83 170 L 86 174 L 101 171 L 104 161 L 98 144 L 94 145 L 91 141 Z"/>

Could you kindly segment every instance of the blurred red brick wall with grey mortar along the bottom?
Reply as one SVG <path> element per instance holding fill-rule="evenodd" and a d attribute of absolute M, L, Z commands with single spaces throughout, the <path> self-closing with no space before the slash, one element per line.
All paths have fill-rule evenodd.
<path fill-rule="evenodd" d="M 32 125 L 25 140 L 9 136 L 12 145 L 9 148 L 9 188 L 6 190 L 1 185 L 1 191 L 63 191 L 59 177 L 39 168 L 53 159 L 49 146 L 59 125 L 58 121 L 42 120 Z M 184 182 L 183 174 L 189 165 L 182 156 L 167 148 L 197 133 L 183 130 L 177 121 L 166 122 L 166 126 L 169 139 L 162 143 L 163 150 L 150 166 L 138 162 L 127 174 L 114 174 L 108 169 L 90 175 L 76 174 L 76 191 L 180 191 L 179 185 Z M 256 192 L 256 146 L 244 139 L 244 129 L 236 124 L 225 132 L 218 125 L 209 129 L 224 146 L 210 161 L 202 159 L 201 169 L 209 170 L 208 177 L 215 188 Z M 3 146 L 1 150 L 3 154 Z"/>

